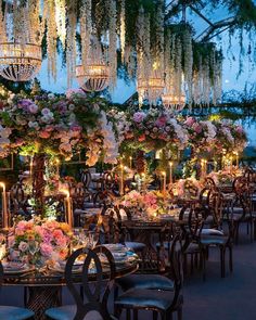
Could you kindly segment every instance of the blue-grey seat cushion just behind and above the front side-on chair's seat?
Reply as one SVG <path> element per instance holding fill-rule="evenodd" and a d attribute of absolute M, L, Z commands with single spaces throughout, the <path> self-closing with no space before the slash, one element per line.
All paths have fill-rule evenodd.
<path fill-rule="evenodd" d="M 174 291 L 174 281 L 159 274 L 130 274 L 116 279 L 123 291 L 130 289 L 159 289 Z"/>

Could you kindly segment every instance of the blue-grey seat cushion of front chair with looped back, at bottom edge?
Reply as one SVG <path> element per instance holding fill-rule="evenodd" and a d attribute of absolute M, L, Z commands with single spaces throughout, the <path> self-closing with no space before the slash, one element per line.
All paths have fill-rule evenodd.
<path fill-rule="evenodd" d="M 63 306 L 51 308 L 46 311 L 46 316 L 53 320 L 73 320 L 76 315 L 76 306 Z M 111 316 L 112 319 L 115 319 Z M 89 311 L 84 320 L 104 320 L 98 311 Z"/>

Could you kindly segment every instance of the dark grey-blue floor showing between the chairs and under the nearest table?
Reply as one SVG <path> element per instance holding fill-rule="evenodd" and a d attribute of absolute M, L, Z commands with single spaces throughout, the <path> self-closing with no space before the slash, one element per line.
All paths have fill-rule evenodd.
<path fill-rule="evenodd" d="M 227 272 L 225 279 L 220 278 L 218 251 L 213 248 L 207 263 L 206 281 L 195 271 L 187 277 L 183 295 L 183 320 L 255 320 L 256 242 L 251 243 L 245 234 L 241 236 L 240 244 L 234 246 L 234 272 Z M 64 303 L 71 303 L 66 291 Z M 23 290 L 3 287 L 0 304 L 22 306 Z M 152 319 L 151 313 L 141 312 L 139 319 Z"/>

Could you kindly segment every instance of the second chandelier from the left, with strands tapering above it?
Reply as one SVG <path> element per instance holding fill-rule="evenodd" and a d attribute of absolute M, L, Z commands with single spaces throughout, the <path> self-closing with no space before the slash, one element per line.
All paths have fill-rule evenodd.
<path fill-rule="evenodd" d="M 89 92 L 102 91 L 108 86 L 110 67 L 99 43 L 94 47 L 91 46 L 86 63 L 76 66 L 76 79 L 79 86 Z"/>

